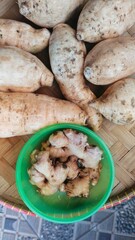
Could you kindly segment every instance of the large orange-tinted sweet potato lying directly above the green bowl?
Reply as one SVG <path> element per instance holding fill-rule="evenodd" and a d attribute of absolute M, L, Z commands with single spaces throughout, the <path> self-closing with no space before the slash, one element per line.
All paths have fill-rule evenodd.
<path fill-rule="evenodd" d="M 87 116 L 68 101 L 33 93 L 0 92 L 0 138 L 32 134 L 54 123 L 85 125 Z"/>

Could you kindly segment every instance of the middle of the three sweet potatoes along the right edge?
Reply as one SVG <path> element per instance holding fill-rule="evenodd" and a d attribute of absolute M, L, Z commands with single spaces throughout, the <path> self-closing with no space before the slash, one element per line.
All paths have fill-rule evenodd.
<path fill-rule="evenodd" d="M 106 85 L 135 72 L 135 38 L 117 37 L 98 43 L 87 55 L 84 75 L 96 85 Z"/>

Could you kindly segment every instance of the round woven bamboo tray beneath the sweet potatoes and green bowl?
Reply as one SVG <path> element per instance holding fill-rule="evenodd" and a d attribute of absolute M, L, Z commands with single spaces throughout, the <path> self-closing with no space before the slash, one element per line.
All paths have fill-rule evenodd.
<path fill-rule="evenodd" d="M 0 18 L 22 20 L 28 22 L 19 14 L 16 0 L 0 0 Z M 125 35 L 135 35 L 133 26 Z M 48 51 L 37 56 L 43 61 L 46 54 L 48 66 Z M 48 66 L 49 67 L 49 66 Z M 105 88 L 92 89 L 99 96 Z M 38 91 L 54 97 L 63 98 L 59 87 L 54 83 L 51 89 L 42 88 Z M 135 123 L 128 126 L 117 126 L 104 120 L 102 129 L 98 134 L 105 140 L 110 148 L 116 167 L 114 188 L 106 205 L 109 208 L 135 196 Z M 15 185 L 15 165 L 18 154 L 30 136 L 0 139 L 0 203 L 32 214 L 20 199 Z"/>

